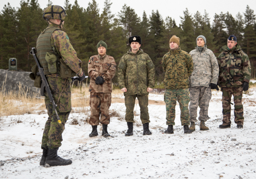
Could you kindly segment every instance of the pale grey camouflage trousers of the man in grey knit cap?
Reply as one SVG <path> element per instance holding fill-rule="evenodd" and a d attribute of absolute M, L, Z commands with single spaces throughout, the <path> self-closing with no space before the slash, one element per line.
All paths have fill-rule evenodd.
<path fill-rule="evenodd" d="M 199 121 L 208 120 L 208 108 L 212 98 L 211 87 L 206 86 L 195 86 L 190 87 L 190 104 L 189 104 L 189 115 L 190 122 L 196 122 L 197 107 L 200 107 Z"/>

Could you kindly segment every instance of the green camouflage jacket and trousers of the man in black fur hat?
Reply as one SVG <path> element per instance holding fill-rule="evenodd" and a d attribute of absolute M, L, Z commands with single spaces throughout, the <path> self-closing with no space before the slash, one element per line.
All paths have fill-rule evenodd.
<path fill-rule="evenodd" d="M 120 88 L 126 88 L 125 96 L 126 122 L 134 122 L 133 109 L 138 98 L 141 108 L 141 121 L 148 123 L 148 92 L 147 88 L 155 85 L 155 68 L 152 60 L 139 49 L 133 53 L 131 49 L 121 58 L 118 65 L 118 83 Z"/>

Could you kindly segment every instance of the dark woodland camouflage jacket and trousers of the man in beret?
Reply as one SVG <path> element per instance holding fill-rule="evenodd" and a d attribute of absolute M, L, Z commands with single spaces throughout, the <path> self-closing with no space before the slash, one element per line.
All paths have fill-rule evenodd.
<path fill-rule="evenodd" d="M 222 114 L 223 122 L 230 124 L 230 101 L 232 95 L 235 103 L 235 123 L 243 125 L 243 104 L 242 104 L 242 84 L 243 81 L 249 83 L 251 78 L 251 64 L 248 56 L 242 51 L 240 45 L 230 51 L 225 45 L 220 49 L 218 56 L 219 83 L 222 88 Z"/>

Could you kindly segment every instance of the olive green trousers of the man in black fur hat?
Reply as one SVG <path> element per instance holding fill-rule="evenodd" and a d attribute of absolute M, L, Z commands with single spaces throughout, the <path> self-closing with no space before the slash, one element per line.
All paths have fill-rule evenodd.
<path fill-rule="evenodd" d="M 133 109 L 134 109 L 136 97 L 138 98 L 139 108 L 141 108 L 142 124 L 150 122 L 149 114 L 148 114 L 148 94 L 145 94 L 145 95 L 126 94 L 125 95 L 125 107 L 126 107 L 125 121 L 134 123 Z"/>

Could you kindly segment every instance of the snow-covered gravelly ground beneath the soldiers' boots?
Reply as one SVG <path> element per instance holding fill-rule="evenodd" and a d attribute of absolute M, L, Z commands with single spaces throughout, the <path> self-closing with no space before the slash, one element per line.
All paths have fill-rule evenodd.
<path fill-rule="evenodd" d="M 123 98 L 120 95 L 119 98 Z M 150 94 L 150 100 L 164 99 Z M 135 106 L 133 136 L 126 137 L 125 105 L 113 103 L 108 132 L 112 137 L 89 138 L 91 126 L 85 114 L 72 113 L 63 133 L 59 156 L 73 160 L 71 165 L 39 166 L 40 141 L 46 111 L 0 118 L 0 178 L 256 178 L 256 88 L 243 94 L 245 122 L 243 129 L 234 123 L 222 124 L 222 92 L 213 91 L 206 126 L 208 131 L 184 134 L 179 105 L 176 105 L 174 134 L 165 134 L 165 105 L 149 105 L 152 135 L 143 136 L 139 106 Z M 232 102 L 232 101 L 231 101 Z M 199 112 L 199 109 L 198 111 Z M 71 125 L 76 119 L 78 125 Z M 19 123 L 18 123 L 19 121 Z M 101 134 L 101 127 L 98 128 Z"/>

